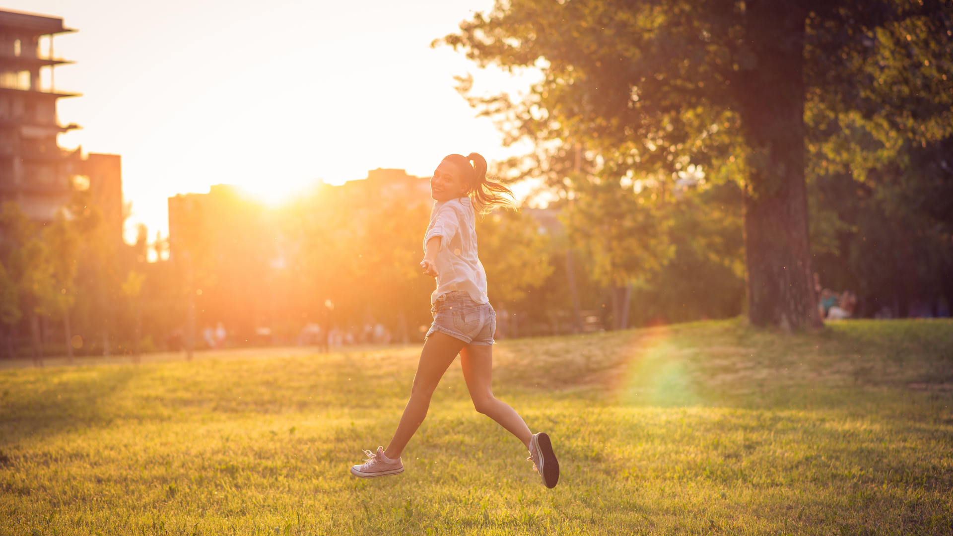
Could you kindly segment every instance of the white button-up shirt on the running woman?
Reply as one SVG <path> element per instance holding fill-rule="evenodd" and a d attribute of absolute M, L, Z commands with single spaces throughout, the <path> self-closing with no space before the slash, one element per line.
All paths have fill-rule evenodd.
<path fill-rule="evenodd" d="M 470 299 L 486 303 L 486 272 L 476 257 L 476 214 L 470 197 L 434 201 L 430 225 L 423 237 L 424 249 L 433 237 L 440 237 L 436 253 L 436 290 L 430 302 L 455 290 L 466 291 Z"/>

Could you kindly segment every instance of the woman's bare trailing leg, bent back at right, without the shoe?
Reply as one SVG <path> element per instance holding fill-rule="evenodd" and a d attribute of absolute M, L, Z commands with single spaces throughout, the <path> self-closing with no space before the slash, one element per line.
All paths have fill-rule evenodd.
<path fill-rule="evenodd" d="M 460 351 L 460 365 L 476 411 L 509 430 L 529 449 L 533 436 L 529 426 L 510 404 L 498 401 L 493 396 L 490 385 L 493 377 L 493 346 L 467 345 Z"/>

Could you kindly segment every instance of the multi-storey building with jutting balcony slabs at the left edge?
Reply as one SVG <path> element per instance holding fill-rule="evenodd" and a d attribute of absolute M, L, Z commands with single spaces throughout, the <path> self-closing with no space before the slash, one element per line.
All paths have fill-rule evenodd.
<path fill-rule="evenodd" d="M 60 125 L 56 102 L 79 93 L 56 91 L 52 39 L 74 30 L 63 19 L 0 10 L 0 201 L 16 201 L 31 219 L 47 222 L 68 203 L 73 189 L 91 191 L 117 238 L 122 237 L 122 171 L 118 155 L 64 151 L 56 136 L 79 128 Z M 40 51 L 40 38 L 50 50 Z M 51 70 L 49 87 L 40 70 Z"/>

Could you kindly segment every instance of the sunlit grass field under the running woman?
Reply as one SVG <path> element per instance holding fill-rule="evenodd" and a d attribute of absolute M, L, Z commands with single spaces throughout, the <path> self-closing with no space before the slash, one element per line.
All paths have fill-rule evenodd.
<path fill-rule="evenodd" d="M 2 534 L 950 534 L 953 322 L 738 320 L 497 345 L 546 489 L 455 364 L 404 452 L 418 348 L 0 371 Z"/>

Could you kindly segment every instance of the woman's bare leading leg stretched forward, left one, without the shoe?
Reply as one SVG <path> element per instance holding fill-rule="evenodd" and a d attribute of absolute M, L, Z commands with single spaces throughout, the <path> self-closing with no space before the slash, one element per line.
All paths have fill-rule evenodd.
<path fill-rule="evenodd" d="M 420 361 L 417 363 L 417 372 L 414 377 L 414 387 L 411 389 L 411 400 L 404 408 L 400 423 L 387 444 L 384 456 L 390 460 L 400 458 L 404 447 L 414 437 L 416 429 L 427 417 L 430 407 L 430 398 L 434 394 L 437 383 L 447 372 L 450 363 L 454 362 L 465 342 L 445 333 L 436 332 L 427 338 L 420 352 Z M 517 416 L 518 418 L 518 416 Z M 525 424 L 524 424 L 525 426 Z"/>

